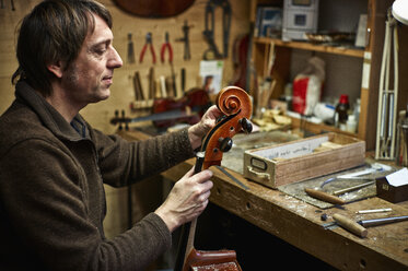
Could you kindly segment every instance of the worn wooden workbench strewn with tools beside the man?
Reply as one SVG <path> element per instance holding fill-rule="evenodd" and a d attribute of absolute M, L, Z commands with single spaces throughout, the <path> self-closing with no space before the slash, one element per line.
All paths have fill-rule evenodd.
<path fill-rule="evenodd" d="M 127 139 L 145 139 L 140 132 L 123 132 Z M 188 160 L 163 173 L 165 178 L 178 180 L 193 167 Z M 325 229 L 324 223 L 340 213 L 355 221 L 396 215 L 408 215 L 408 202 L 393 204 L 371 198 L 337 208 L 319 210 L 278 190 L 266 188 L 229 170 L 247 188 L 234 182 L 215 167 L 212 203 L 285 240 L 301 250 L 341 270 L 408 270 L 408 221 L 370 227 L 366 238 L 360 238 L 341 227 Z M 392 208 L 387 214 L 355 214 L 358 210 Z M 322 222 L 322 213 L 328 221 Z"/>

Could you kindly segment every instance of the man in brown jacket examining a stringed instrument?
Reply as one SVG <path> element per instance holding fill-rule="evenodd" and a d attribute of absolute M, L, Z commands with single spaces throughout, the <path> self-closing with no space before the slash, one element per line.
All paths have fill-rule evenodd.
<path fill-rule="evenodd" d="M 126 186 L 193 157 L 220 115 L 211 107 L 145 142 L 92 129 L 79 111 L 109 97 L 123 66 L 110 28 L 94 0 L 44 1 L 21 24 L 15 101 L 0 117 L 0 270 L 143 270 L 208 204 L 212 174 L 191 169 L 158 210 L 105 238 L 103 182 Z"/>

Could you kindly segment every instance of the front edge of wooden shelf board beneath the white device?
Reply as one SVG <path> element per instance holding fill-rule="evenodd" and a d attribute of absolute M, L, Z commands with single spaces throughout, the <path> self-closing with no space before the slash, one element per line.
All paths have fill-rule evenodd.
<path fill-rule="evenodd" d="M 255 43 L 258 44 L 271 44 L 273 43 L 276 46 L 281 47 L 288 47 L 288 48 L 295 48 L 295 49 L 302 49 L 302 50 L 313 50 L 313 51 L 322 51 L 322 52 L 328 52 L 328 54 L 335 54 L 335 55 L 341 55 L 341 56 L 349 56 L 349 57 L 357 57 L 357 58 L 363 58 L 364 57 L 364 50 L 363 49 L 357 49 L 357 48 L 346 48 L 346 47 L 335 47 L 335 46 L 326 46 L 326 45 L 317 45 L 317 44 L 311 44 L 307 42 L 283 42 L 281 39 L 277 38 L 269 38 L 269 37 L 255 37 Z"/>

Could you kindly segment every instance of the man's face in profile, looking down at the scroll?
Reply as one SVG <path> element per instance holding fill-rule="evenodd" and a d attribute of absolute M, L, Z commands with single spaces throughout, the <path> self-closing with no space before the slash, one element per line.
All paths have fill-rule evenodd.
<path fill-rule="evenodd" d="M 113 47 L 113 33 L 105 21 L 94 15 L 95 30 L 89 33 L 75 60 L 62 74 L 68 101 L 80 108 L 109 97 L 114 69 L 123 61 Z"/>

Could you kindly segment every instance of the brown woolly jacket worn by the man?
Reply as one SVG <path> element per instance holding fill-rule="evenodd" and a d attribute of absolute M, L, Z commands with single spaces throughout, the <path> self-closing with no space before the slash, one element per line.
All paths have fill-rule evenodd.
<path fill-rule="evenodd" d="M 25 82 L 0 117 L 0 270 L 143 270 L 171 233 L 151 213 L 106 239 L 103 182 L 125 186 L 191 157 L 187 131 L 129 143 L 81 116 L 68 123 Z"/>

